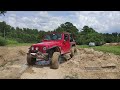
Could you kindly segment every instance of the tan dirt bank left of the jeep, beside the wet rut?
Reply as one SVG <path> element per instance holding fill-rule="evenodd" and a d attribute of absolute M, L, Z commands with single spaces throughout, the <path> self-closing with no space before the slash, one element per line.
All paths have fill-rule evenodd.
<path fill-rule="evenodd" d="M 28 46 L 0 47 L 0 79 L 18 79 L 26 70 Z"/>

